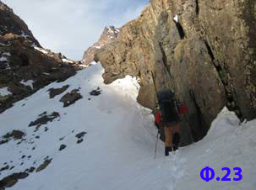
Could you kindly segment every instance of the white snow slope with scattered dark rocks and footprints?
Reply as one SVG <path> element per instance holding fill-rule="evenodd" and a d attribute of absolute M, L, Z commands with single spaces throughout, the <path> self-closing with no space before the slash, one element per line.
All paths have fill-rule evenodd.
<path fill-rule="evenodd" d="M 237 117 L 224 108 L 204 140 L 168 157 L 163 156 L 164 147 L 159 141 L 154 159 L 156 130 L 150 110 L 136 102 L 138 83 L 126 77 L 105 85 L 102 73 L 100 65 L 90 66 L 65 82 L 52 83 L 0 114 L 0 135 L 14 129 L 26 134 L 26 140 L 19 145 L 17 140 L 0 145 L 0 168 L 5 162 L 15 166 L 0 172 L 0 180 L 31 166 L 37 168 L 46 156 L 52 159 L 45 170 L 30 173 L 10 189 L 256 189 L 255 120 L 240 125 Z M 66 84 L 69 85 L 66 92 L 80 87 L 83 98 L 63 108 L 59 99 L 66 92 L 49 99 L 47 90 Z M 89 92 L 97 87 L 101 88 L 101 95 L 90 96 Z M 42 125 L 38 131 L 28 127 L 45 111 L 57 112 L 60 118 Z M 87 132 L 84 141 L 77 144 L 75 135 L 83 131 Z M 67 147 L 59 151 L 60 145 Z M 224 166 L 240 166 L 242 181 L 204 182 L 199 173 L 205 166 L 211 166 L 219 174 Z"/>

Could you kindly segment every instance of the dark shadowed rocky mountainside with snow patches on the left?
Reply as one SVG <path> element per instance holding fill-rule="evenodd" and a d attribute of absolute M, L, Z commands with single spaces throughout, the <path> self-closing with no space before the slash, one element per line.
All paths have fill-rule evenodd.
<path fill-rule="evenodd" d="M 0 1 L 0 113 L 50 82 L 74 76 L 78 65 L 41 48 L 25 22 Z"/>

